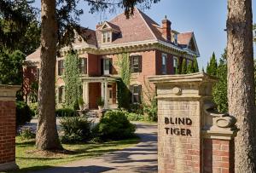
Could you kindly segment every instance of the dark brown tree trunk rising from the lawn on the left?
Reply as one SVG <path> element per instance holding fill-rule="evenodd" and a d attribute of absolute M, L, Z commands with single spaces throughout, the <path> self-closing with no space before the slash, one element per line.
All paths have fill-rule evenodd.
<path fill-rule="evenodd" d="M 36 147 L 42 150 L 61 149 L 55 118 L 55 62 L 57 20 L 55 0 L 41 1 L 41 72 L 38 91 L 38 130 Z"/>

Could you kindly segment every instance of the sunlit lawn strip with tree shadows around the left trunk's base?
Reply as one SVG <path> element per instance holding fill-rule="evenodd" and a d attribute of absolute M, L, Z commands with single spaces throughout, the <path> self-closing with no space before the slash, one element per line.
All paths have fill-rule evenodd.
<path fill-rule="evenodd" d="M 64 153 L 42 152 L 35 148 L 35 140 L 22 141 L 16 137 L 16 164 L 20 166 L 18 172 L 41 170 L 59 164 L 66 164 L 79 159 L 100 156 L 137 144 L 138 138 L 123 141 L 108 141 L 103 143 L 62 144 L 68 151 Z M 17 171 L 15 171 L 17 172 Z"/>

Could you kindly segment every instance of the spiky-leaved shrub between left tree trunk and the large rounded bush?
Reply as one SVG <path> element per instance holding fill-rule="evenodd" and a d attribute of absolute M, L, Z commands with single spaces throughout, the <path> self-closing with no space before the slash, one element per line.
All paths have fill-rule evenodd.
<path fill-rule="evenodd" d="M 78 143 L 90 139 L 90 121 L 85 117 L 63 117 L 61 128 L 64 136 L 61 136 L 63 143 Z"/>

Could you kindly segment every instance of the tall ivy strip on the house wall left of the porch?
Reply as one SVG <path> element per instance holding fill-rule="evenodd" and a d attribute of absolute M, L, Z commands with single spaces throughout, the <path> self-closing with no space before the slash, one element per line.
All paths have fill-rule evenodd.
<path fill-rule="evenodd" d="M 79 79 L 79 56 L 77 54 L 70 53 L 65 57 L 64 61 L 65 74 L 65 105 L 69 108 L 79 108 L 79 97 L 81 80 Z"/>

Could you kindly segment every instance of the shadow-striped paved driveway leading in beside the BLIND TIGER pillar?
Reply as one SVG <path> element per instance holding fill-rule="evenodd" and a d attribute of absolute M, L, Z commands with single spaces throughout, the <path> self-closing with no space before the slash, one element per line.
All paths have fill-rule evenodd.
<path fill-rule="evenodd" d="M 141 142 L 135 147 L 40 170 L 37 173 L 157 172 L 157 126 L 137 124 L 136 133 L 141 137 Z"/>

